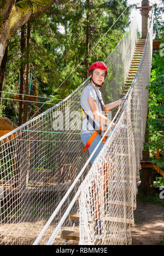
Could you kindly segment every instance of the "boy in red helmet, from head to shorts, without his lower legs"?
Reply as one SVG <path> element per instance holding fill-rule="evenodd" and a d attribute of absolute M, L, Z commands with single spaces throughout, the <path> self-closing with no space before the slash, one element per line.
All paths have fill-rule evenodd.
<path fill-rule="evenodd" d="M 99 129 L 103 130 L 102 125 L 108 127 L 111 123 L 105 116 L 105 110 L 113 109 L 120 105 L 122 101 L 119 99 L 118 101 L 104 105 L 99 88 L 102 88 L 107 74 L 108 68 L 105 63 L 99 61 L 92 63 L 89 68 L 90 84 L 81 92 L 80 104 L 82 112 L 85 115 L 81 129 L 81 141 L 84 143 L 84 150 L 86 148 L 89 149 L 90 155 L 101 140 L 101 136 L 99 135 L 101 131 L 99 131 Z M 112 123 L 112 127 L 113 126 L 114 123 Z M 97 131 L 97 133 L 95 131 Z M 96 159 L 102 147 L 103 142 L 101 142 L 95 154 L 92 156 L 91 163 Z"/>

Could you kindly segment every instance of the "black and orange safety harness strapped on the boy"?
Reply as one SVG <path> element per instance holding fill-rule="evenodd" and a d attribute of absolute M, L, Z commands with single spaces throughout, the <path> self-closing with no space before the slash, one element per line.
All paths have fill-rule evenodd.
<path fill-rule="evenodd" d="M 93 87 L 94 88 L 94 87 Z M 95 89 L 95 88 L 94 88 Z M 95 90 L 96 91 L 96 90 Z M 104 107 L 103 107 L 103 104 L 102 104 L 102 101 L 99 99 L 98 97 L 98 94 L 97 94 L 97 91 L 96 91 L 96 95 L 97 95 L 97 98 L 98 98 L 98 101 L 101 105 L 101 110 L 102 110 L 102 114 L 106 114 L 106 110 L 104 110 Z M 83 152 L 85 152 L 86 149 L 89 149 L 89 147 L 91 146 L 92 142 L 94 141 L 94 139 L 96 138 L 96 136 L 99 134 L 99 136 L 103 136 L 103 133 L 104 131 L 102 131 L 102 127 L 101 126 L 97 126 L 95 121 L 85 112 L 85 110 L 81 107 L 81 112 L 82 112 L 82 115 L 83 115 L 83 119 L 86 118 L 87 121 L 90 123 L 90 125 L 93 127 L 93 129 L 95 130 L 93 132 L 93 134 L 91 135 L 91 137 L 89 138 L 89 140 L 87 141 L 86 143 L 86 146 L 83 148 Z M 106 142 L 106 139 L 107 139 L 107 136 L 105 136 L 103 138 L 103 144 Z"/>

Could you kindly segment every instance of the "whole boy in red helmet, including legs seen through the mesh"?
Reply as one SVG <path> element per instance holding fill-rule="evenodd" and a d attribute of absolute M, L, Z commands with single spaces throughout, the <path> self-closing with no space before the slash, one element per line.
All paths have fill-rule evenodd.
<path fill-rule="evenodd" d="M 90 84 L 87 85 L 81 92 L 80 104 L 81 110 L 84 114 L 83 126 L 81 129 L 81 141 L 84 143 L 84 148 L 89 149 L 90 155 L 96 148 L 101 140 L 100 133 L 103 131 L 103 125 L 107 127 L 111 121 L 106 117 L 105 110 L 113 109 L 121 104 L 121 99 L 118 101 L 104 104 L 99 88 L 103 86 L 103 82 L 108 74 L 107 65 L 103 62 L 95 62 L 89 68 Z M 112 127 L 114 123 L 112 123 Z M 96 159 L 97 155 L 103 147 L 103 142 L 99 145 L 95 154 L 91 158 L 91 163 Z M 97 183 L 93 184 L 93 198 L 94 198 L 94 212 L 95 212 L 95 230 L 96 235 L 102 235 L 102 220 L 101 214 L 104 208 L 104 193 L 108 190 L 108 181 L 112 179 L 114 172 L 114 164 L 107 156 L 106 166 L 99 170 L 99 178 L 96 179 Z M 98 185 L 99 183 L 99 185 Z"/>

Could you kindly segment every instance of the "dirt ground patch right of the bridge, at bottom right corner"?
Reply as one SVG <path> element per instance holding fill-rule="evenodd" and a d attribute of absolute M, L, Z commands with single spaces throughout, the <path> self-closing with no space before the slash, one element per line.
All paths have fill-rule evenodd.
<path fill-rule="evenodd" d="M 132 245 L 156 245 L 164 235 L 164 205 L 137 201 L 134 226 L 131 228 Z"/>

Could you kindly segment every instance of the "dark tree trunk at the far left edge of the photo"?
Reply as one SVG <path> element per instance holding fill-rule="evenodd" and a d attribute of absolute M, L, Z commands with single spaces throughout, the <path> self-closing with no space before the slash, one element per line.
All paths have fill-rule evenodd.
<path fill-rule="evenodd" d="M 8 46 L 5 48 L 5 53 L 1 62 L 1 68 L 0 68 L 0 109 L 1 109 L 1 97 L 3 94 L 3 85 L 4 85 L 4 77 L 5 77 L 5 68 L 7 64 L 8 59 Z"/>

